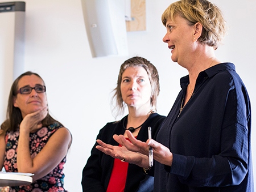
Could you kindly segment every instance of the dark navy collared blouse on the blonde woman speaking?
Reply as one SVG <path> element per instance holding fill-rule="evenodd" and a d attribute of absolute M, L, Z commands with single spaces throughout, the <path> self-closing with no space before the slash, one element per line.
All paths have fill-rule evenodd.
<path fill-rule="evenodd" d="M 250 99 L 233 63 L 200 72 L 179 116 L 189 77 L 156 140 L 170 148 L 172 167 L 155 163 L 154 191 L 254 191 Z"/>

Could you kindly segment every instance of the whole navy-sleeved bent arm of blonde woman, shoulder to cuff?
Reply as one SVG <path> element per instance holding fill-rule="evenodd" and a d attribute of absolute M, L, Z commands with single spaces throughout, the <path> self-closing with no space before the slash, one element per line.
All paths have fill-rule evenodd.
<path fill-rule="evenodd" d="M 197 187 L 232 186 L 241 182 L 246 185 L 244 179 L 251 169 L 250 103 L 241 95 L 236 97 L 235 91 L 230 91 L 226 100 L 220 152 L 205 158 L 174 154 L 172 167 L 165 167 L 167 172 L 176 174 L 180 182 Z"/>

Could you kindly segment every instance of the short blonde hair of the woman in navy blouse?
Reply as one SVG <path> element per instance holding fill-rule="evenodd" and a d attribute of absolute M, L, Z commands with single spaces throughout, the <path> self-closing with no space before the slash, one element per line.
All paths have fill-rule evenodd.
<path fill-rule="evenodd" d="M 172 3 L 162 14 L 162 23 L 166 26 L 167 20 L 174 20 L 181 16 L 189 25 L 197 22 L 203 25 L 199 37 L 202 44 L 217 49 L 226 35 L 226 22 L 220 8 L 207 0 L 181 0 Z"/>

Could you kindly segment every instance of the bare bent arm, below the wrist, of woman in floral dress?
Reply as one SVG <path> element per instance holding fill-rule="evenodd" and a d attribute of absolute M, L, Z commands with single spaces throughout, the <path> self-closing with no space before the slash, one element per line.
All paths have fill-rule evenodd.
<path fill-rule="evenodd" d="M 71 133 L 62 127 L 52 134 L 46 146 L 32 159 L 30 135 L 26 131 L 21 131 L 17 151 L 18 172 L 34 173 L 34 181 L 46 176 L 65 157 L 71 140 Z"/>

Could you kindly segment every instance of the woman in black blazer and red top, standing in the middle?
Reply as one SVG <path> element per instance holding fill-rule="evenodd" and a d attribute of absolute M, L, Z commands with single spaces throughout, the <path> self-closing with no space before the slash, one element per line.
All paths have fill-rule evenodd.
<path fill-rule="evenodd" d="M 148 126 L 151 126 L 152 138 L 155 138 L 165 119 L 155 113 L 158 95 L 159 76 L 155 66 L 142 57 L 127 59 L 120 67 L 114 98 L 117 101 L 118 114 L 123 114 L 125 106 L 129 114 L 121 121 L 107 123 L 100 130 L 97 139 L 118 147 L 113 135 L 123 134 L 127 137 L 125 130 L 130 130 L 138 140 L 146 142 Z M 92 148 L 92 154 L 82 172 L 83 191 L 153 190 L 154 178 L 143 174 L 141 167 L 125 162 L 123 157 L 114 159 L 105 155 L 96 146 L 97 143 Z"/>

